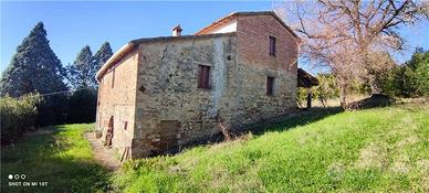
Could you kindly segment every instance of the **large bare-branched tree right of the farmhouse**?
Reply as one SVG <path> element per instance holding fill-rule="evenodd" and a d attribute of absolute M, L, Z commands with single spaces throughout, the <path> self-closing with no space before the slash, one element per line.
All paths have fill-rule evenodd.
<path fill-rule="evenodd" d="M 389 65 L 386 54 L 404 49 L 399 26 L 429 18 L 428 1 L 317 0 L 284 1 L 274 11 L 303 37 L 301 54 L 327 66 L 341 86 L 341 101 L 352 79 L 380 93 L 377 74 Z"/>

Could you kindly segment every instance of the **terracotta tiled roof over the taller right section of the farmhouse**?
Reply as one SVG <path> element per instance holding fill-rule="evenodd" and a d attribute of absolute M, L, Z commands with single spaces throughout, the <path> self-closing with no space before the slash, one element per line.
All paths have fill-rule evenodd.
<path fill-rule="evenodd" d="M 272 17 L 274 17 L 274 18 L 275 18 L 275 19 L 276 19 L 276 20 L 278 20 L 278 21 L 279 21 L 279 22 L 287 30 L 287 31 L 290 31 L 290 32 L 292 33 L 293 36 L 295 36 L 296 39 L 301 40 L 300 36 L 297 36 L 297 35 L 293 32 L 293 30 L 292 30 L 289 25 L 286 25 L 286 23 L 284 23 L 283 20 L 280 19 L 280 18 L 278 17 L 278 14 L 275 14 L 274 11 L 233 12 L 233 13 L 230 13 L 230 14 L 228 14 L 228 15 L 226 15 L 226 17 L 219 19 L 219 20 L 216 20 L 216 21 L 214 21 L 213 23 L 211 23 L 210 25 L 208 25 L 208 26 L 201 29 L 200 31 L 198 31 L 198 32 L 196 33 L 196 35 L 203 34 L 205 32 L 207 32 L 207 31 L 209 31 L 209 30 L 211 30 L 211 29 L 214 29 L 214 28 L 217 28 L 217 26 L 220 26 L 220 25 L 222 25 L 223 23 L 229 22 L 229 21 L 231 21 L 231 20 L 233 20 L 233 19 L 236 19 L 237 17 L 240 17 L 240 15 L 272 15 Z"/>

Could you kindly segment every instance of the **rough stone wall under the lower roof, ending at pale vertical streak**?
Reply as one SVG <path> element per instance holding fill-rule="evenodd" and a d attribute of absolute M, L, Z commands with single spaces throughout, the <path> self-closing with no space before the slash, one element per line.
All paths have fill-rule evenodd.
<path fill-rule="evenodd" d="M 157 154 L 163 121 L 178 121 L 178 147 L 218 130 L 214 117 L 230 116 L 236 36 L 175 39 L 138 46 L 136 131 L 133 158 Z M 198 88 L 198 66 L 210 66 L 210 89 Z M 223 115 L 224 114 L 224 115 Z M 227 115 L 228 114 L 228 115 Z"/>

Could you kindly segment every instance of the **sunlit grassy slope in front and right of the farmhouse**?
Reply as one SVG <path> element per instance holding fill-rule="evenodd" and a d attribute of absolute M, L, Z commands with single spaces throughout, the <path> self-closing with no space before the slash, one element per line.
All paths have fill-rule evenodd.
<path fill-rule="evenodd" d="M 429 105 L 314 111 L 232 142 L 129 161 L 123 192 L 429 192 Z"/>

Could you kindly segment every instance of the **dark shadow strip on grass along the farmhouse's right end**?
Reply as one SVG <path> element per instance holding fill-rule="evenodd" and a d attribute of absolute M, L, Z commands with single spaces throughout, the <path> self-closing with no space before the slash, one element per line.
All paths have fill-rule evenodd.
<path fill-rule="evenodd" d="M 284 131 L 292 129 L 297 126 L 304 126 L 317 120 L 324 119 L 332 115 L 344 111 L 341 107 L 314 107 L 310 110 L 302 110 L 297 114 L 280 116 L 273 118 L 272 120 L 264 120 L 260 124 L 253 125 L 252 131 L 253 135 L 263 135 L 268 131 Z"/>

